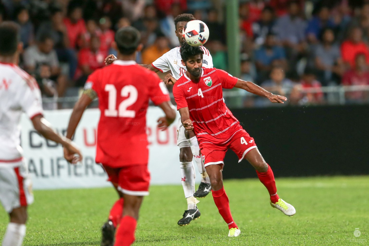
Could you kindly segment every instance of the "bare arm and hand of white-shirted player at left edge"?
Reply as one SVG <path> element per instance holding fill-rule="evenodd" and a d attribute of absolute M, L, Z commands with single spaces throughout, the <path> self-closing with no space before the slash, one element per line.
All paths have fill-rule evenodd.
<path fill-rule="evenodd" d="M 63 147 L 68 150 L 69 155 L 67 156 L 68 158 L 66 157 L 66 159 L 70 163 L 75 164 L 82 160 L 82 154 L 75 143 L 55 132 L 54 129 L 51 128 L 51 124 L 46 121 L 46 119 L 43 118 L 42 115 L 37 115 L 33 117 L 32 124 L 35 130 L 39 132 L 39 134 L 47 139 L 50 139 L 51 141 L 61 143 L 61 145 L 63 145 Z M 77 154 L 77 156 L 75 156 L 75 154 Z"/>

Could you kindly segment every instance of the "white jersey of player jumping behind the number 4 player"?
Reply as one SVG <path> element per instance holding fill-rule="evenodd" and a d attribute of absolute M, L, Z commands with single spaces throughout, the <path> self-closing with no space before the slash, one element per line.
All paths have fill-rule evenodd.
<path fill-rule="evenodd" d="M 187 71 L 186 66 L 182 65 L 182 58 L 179 52 L 180 47 L 176 47 L 166 52 L 164 55 L 151 63 L 153 67 L 160 70 L 162 73 L 171 71 L 175 79 L 179 79 Z M 212 68 L 213 58 L 211 58 L 210 52 L 204 46 L 200 46 L 203 50 L 203 67 Z"/>

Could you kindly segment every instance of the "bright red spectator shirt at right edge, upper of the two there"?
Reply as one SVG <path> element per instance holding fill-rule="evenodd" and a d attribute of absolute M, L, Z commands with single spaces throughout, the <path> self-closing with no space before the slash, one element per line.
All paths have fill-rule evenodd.
<path fill-rule="evenodd" d="M 355 44 L 349 40 L 344 41 L 341 45 L 342 60 L 348 62 L 351 67 L 355 67 L 355 57 L 359 53 L 364 53 L 366 63 L 369 63 L 369 47 L 364 42 Z"/>

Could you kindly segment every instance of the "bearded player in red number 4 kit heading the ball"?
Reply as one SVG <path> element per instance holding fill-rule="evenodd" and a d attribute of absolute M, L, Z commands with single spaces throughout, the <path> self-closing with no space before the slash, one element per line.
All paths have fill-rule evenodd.
<path fill-rule="evenodd" d="M 198 47 L 182 44 L 180 53 L 187 72 L 175 83 L 173 95 L 183 126 L 188 131 L 193 130 L 200 142 L 204 166 L 210 177 L 211 192 L 219 213 L 228 224 L 228 236 L 238 236 L 241 233 L 232 218 L 223 187 L 221 171 L 228 148 L 238 155 L 239 162 L 246 159 L 256 169 L 259 180 L 269 192 L 270 205 L 286 215 L 294 215 L 294 207 L 277 195 L 273 171 L 261 156 L 254 138 L 241 127 L 225 105 L 222 89 L 237 87 L 267 97 L 272 103 L 284 103 L 287 98 L 274 95 L 223 70 L 202 68 L 203 52 Z"/>

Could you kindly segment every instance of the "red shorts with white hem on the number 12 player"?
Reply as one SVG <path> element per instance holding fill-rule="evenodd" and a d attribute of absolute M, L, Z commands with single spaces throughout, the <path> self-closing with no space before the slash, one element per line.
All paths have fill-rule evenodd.
<path fill-rule="evenodd" d="M 118 185 L 118 190 L 127 195 L 149 195 L 150 172 L 147 164 L 119 168 L 103 164 L 108 181 Z"/>

